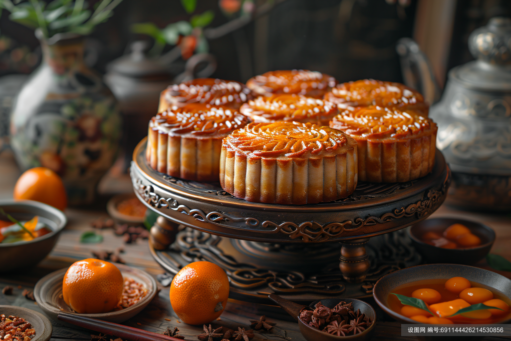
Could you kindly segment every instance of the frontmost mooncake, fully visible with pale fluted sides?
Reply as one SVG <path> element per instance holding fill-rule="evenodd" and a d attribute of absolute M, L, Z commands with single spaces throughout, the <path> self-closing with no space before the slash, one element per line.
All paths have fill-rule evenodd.
<path fill-rule="evenodd" d="M 357 187 L 357 144 L 311 123 L 249 123 L 222 141 L 220 185 L 253 202 L 306 204 Z"/>

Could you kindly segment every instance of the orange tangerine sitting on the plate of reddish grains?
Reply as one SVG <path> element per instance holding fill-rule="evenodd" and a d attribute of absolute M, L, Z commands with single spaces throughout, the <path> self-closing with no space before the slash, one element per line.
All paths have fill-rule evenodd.
<path fill-rule="evenodd" d="M 64 302 L 80 314 L 111 311 L 123 292 L 123 275 L 112 263 L 87 258 L 73 263 L 62 282 Z"/>

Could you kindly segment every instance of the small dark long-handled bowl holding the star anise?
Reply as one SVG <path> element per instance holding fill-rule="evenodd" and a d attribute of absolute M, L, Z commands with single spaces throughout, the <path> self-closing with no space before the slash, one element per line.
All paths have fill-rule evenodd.
<path fill-rule="evenodd" d="M 278 295 L 271 294 L 268 296 L 270 300 L 275 302 L 276 304 L 280 305 L 288 314 L 294 317 L 294 319 L 298 322 L 298 327 L 300 329 L 301 335 L 305 337 L 307 341 L 340 341 L 340 340 L 351 340 L 351 341 L 365 341 L 370 340 L 371 337 L 373 337 L 373 333 L 375 331 L 376 327 L 376 312 L 368 303 L 365 303 L 364 301 L 355 300 L 355 299 L 323 299 L 319 301 L 315 301 L 310 304 L 309 307 L 313 308 L 314 305 L 321 301 L 321 304 L 328 308 L 335 307 L 339 302 L 346 302 L 346 303 L 353 303 L 353 310 L 357 311 L 357 309 L 360 309 L 360 312 L 364 313 L 366 316 L 370 317 L 371 325 L 369 328 L 361 332 L 360 334 L 356 335 L 349 335 L 349 336 L 337 336 L 332 335 L 326 332 L 323 332 L 321 330 L 318 330 L 316 328 L 312 328 L 311 326 L 305 324 L 303 321 L 300 320 L 298 317 L 300 314 L 301 309 L 305 308 L 306 306 L 296 304 L 294 302 L 288 301 L 286 299 L 283 299 L 282 297 Z"/>

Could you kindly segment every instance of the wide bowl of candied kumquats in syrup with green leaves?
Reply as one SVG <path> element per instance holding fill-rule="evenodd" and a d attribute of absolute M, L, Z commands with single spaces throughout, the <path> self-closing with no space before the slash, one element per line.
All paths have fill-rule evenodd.
<path fill-rule="evenodd" d="M 425 264 L 391 272 L 373 288 L 376 303 L 413 324 L 507 324 L 511 280 L 461 264 Z"/>

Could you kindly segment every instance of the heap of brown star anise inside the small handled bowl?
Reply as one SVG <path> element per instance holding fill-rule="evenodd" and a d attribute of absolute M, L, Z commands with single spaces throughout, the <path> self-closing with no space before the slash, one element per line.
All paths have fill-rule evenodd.
<path fill-rule="evenodd" d="M 356 335 L 366 330 L 372 323 L 371 319 L 361 313 L 360 309 L 353 311 L 353 304 L 340 302 L 329 309 L 318 302 L 315 309 L 304 308 L 299 318 L 309 326 L 337 336 Z"/>

